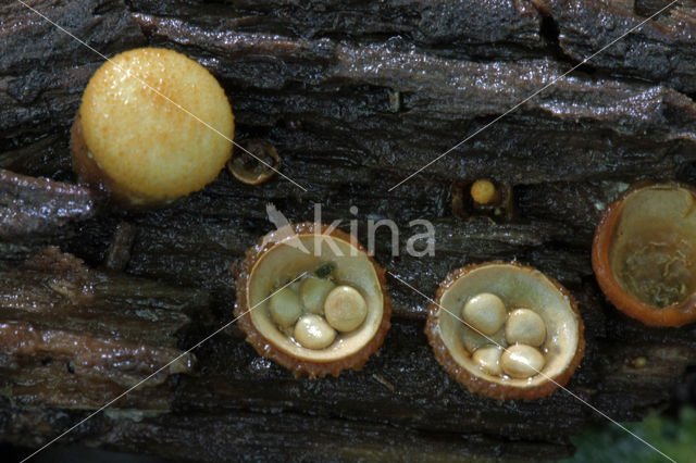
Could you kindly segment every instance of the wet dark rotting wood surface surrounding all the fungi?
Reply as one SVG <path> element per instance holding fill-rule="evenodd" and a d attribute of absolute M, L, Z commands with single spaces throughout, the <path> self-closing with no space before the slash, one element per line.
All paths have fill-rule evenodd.
<path fill-rule="evenodd" d="M 696 363 L 695 328 L 619 315 L 594 281 L 589 247 L 601 210 L 629 183 L 696 178 L 694 11 L 680 7 L 563 76 L 657 8 L 609 3 L 32 2 L 107 55 L 150 43 L 199 60 L 231 98 L 236 137 L 271 141 L 283 173 L 307 188 L 277 175 L 251 187 L 223 172 L 201 192 L 139 213 L 74 186 L 67 133 L 101 58 L 20 3 L 0 5 L 0 167 L 17 173 L 0 175 L 0 326 L 144 352 L 125 370 L 70 349 L 44 364 L 46 348 L 15 352 L 3 341 L 0 388 L 13 401 L 0 401 L 2 439 L 41 445 L 228 323 L 229 265 L 272 229 L 268 202 L 291 221 L 313 220 L 321 203 L 324 222 L 357 221 L 365 246 L 369 220 L 394 220 L 400 255 L 383 228 L 375 258 L 426 295 L 464 263 L 537 266 L 574 293 L 585 320 L 587 354 L 570 390 L 616 420 L 663 408 Z M 511 187 L 509 220 L 452 212 L 452 182 L 478 177 Z M 424 232 L 409 226 L 415 218 L 435 224 L 435 256 L 406 253 Z M 64 271 L 25 263 L 48 245 L 91 268 L 80 276 L 92 288 L 86 299 L 83 279 L 66 286 Z M 426 345 L 427 301 L 389 284 L 394 327 L 362 372 L 295 379 L 233 327 L 195 351 L 191 374 L 156 377 L 114 404 L 130 411 L 98 415 L 64 441 L 211 462 L 538 460 L 570 453 L 569 436 L 601 420 L 563 391 L 506 403 L 468 393 Z"/>

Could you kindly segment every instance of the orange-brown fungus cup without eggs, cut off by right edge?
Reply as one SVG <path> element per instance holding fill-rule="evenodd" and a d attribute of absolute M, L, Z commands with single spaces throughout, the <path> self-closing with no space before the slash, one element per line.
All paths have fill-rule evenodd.
<path fill-rule="evenodd" d="M 592 263 L 609 301 L 650 326 L 696 322 L 696 189 L 641 183 L 607 208 Z"/>

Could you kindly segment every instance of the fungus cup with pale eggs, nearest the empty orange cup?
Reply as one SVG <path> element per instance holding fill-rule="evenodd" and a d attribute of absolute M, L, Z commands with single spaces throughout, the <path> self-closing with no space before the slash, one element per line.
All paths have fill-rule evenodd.
<path fill-rule="evenodd" d="M 470 391 L 535 399 L 568 383 L 584 325 L 558 281 L 517 263 L 462 267 L 440 284 L 425 334 L 437 361 Z"/>

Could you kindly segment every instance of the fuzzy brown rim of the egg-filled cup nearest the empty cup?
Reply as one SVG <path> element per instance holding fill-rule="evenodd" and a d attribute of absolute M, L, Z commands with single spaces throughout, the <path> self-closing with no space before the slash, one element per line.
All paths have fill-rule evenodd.
<path fill-rule="evenodd" d="M 449 348 L 445 345 L 445 341 L 440 336 L 438 323 L 442 309 L 439 305 L 439 301 L 442 300 L 443 296 L 456 281 L 468 275 L 470 272 L 490 265 L 510 265 L 519 270 L 539 273 L 567 299 L 568 305 L 570 306 L 572 313 L 575 315 L 577 322 L 577 346 L 575 348 L 574 355 L 561 372 L 555 374 L 554 376 L 550 376 L 550 378 L 546 378 L 546 380 L 544 380 L 539 385 L 519 387 L 510 384 L 506 385 L 501 381 L 496 383 L 488 380 L 462 366 L 453 358 L 453 355 L 449 351 Z M 556 279 L 542 274 L 536 268 L 527 265 L 522 265 L 517 262 L 485 262 L 482 264 L 467 265 L 448 274 L 437 288 L 435 299 L 428 305 L 427 322 L 425 324 L 425 335 L 427 336 L 428 342 L 431 345 L 431 348 L 433 349 L 433 353 L 435 354 L 435 359 L 437 360 L 437 362 L 443 365 L 447 373 L 449 373 L 455 379 L 457 379 L 457 381 L 464 385 L 470 392 L 499 400 L 531 400 L 550 396 L 557 388 L 563 387 L 568 384 L 569 379 L 571 378 L 571 376 L 573 376 L 573 373 L 580 365 L 580 362 L 582 361 L 585 353 L 584 324 L 582 317 L 580 316 L 577 303 L 573 299 L 570 291 L 568 291 Z"/>

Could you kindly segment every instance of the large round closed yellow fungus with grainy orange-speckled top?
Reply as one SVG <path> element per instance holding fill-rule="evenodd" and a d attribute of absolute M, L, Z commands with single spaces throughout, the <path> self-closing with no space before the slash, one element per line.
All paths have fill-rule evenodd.
<path fill-rule="evenodd" d="M 140 48 L 104 63 L 79 115 L 85 142 L 114 189 L 146 200 L 200 190 L 232 154 L 234 116 L 224 90 L 172 50 Z"/>

